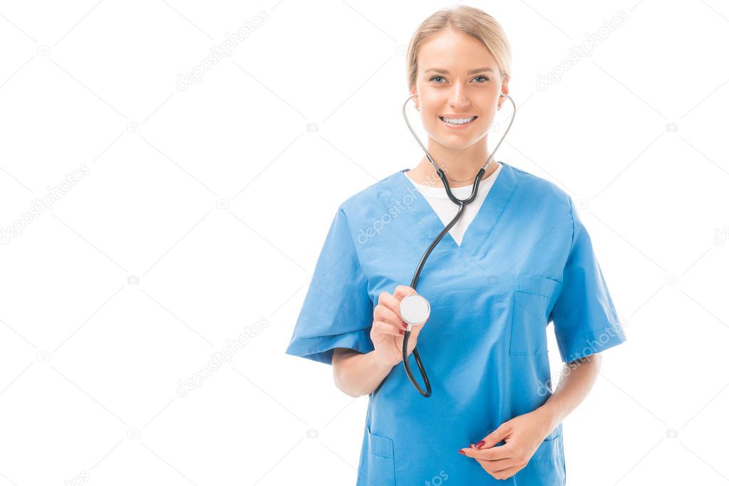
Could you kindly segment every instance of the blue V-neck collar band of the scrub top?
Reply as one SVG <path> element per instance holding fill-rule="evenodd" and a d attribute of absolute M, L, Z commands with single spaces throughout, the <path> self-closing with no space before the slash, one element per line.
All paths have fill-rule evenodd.
<path fill-rule="evenodd" d="M 463 239 L 461 239 L 461 244 L 456 243 L 456 240 L 451 236 L 451 232 L 448 231 L 440 243 L 438 243 L 436 250 L 438 247 L 447 246 L 450 249 L 465 252 L 470 258 L 475 258 L 478 255 L 481 247 L 486 243 L 488 236 L 491 235 L 496 223 L 498 223 L 499 218 L 504 213 L 518 185 L 514 167 L 505 162 L 501 162 L 501 164 L 502 168 L 499 170 L 493 186 L 491 186 L 488 194 L 486 194 L 486 199 L 483 200 L 475 217 L 466 228 Z M 405 174 L 407 170 L 399 170 L 393 175 L 392 180 L 397 186 L 398 192 L 413 193 L 413 191 L 416 191 L 415 194 L 417 194 L 417 197 L 410 205 L 410 212 L 417 218 L 418 227 L 420 228 L 417 235 L 418 239 L 429 244 L 438 236 L 440 231 L 443 231 L 445 224 L 440 220 L 435 210 L 426 201 L 413 181 Z"/>

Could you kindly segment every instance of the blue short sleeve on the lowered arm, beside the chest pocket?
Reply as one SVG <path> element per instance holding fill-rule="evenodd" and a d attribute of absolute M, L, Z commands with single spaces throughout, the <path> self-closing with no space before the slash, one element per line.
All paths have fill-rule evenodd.
<path fill-rule="evenodd" d="M 572 244 L 562 274 L 562 285 L 550 314 L 563 362 L 599 353 L 625 342 L 605 279 L 580 215 L 572 213 Z"/>

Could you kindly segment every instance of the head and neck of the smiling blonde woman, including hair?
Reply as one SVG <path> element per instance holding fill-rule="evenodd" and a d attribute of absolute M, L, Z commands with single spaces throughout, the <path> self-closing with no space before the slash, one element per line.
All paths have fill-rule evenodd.
<path fill-rule="evenodd" d="M 408 89 L 452 187 L 473 180 L 486 160 L 488 128 L 504 102 L 500 94 L 509 93 L 510 52 L 501 25 L 472 7 L 437 12 L 410 41 Z M 431 172 L 423 159 L 409 175 L 420 181 Z"/>

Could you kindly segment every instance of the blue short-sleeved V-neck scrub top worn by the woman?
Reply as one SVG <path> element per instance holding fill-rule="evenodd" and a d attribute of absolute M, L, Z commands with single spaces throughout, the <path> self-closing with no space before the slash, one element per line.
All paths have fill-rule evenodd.
<path fill-rule="evenodd" d="M 550 396 L 549 322 L 564 362 L 625 341 L 572 198 L 501 163 L 461 245 L 446 234 L 416 287 L 431 306 L 417 348 L 432 396 L 402 362 L 370 394 L 357 485 L 565 484 L 561 424 L 505 481 L 458 453 Z M 443 227 L 405 170 L 343 202 L 286 353 L 331 364 L 334 348 L 373 351 L 378 295 L 410 284 Z"/>

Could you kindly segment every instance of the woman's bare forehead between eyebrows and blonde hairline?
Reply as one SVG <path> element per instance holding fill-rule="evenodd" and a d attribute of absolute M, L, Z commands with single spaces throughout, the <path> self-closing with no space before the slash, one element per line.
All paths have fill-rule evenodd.
<path fill-rule="evenodd" d="M 436 33 L 421 44 L 418 66 L 421 69 L 444 68 L 448 71 L 490 67 L 497 71 L 496 59 L 483 42 L 450 30 Z"/>

